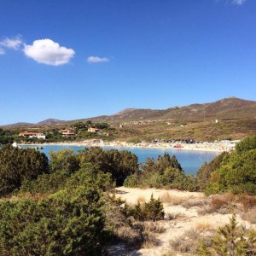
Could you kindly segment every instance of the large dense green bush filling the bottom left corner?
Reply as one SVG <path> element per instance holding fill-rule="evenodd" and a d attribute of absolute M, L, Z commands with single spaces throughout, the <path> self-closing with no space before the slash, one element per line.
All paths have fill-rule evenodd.
<path fill-rule="evenodd" d="M 0 203 L 1 255 L 100 255 L 104 226 L 96 189 Z"/>

